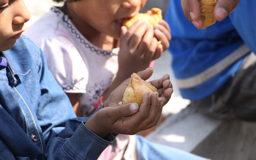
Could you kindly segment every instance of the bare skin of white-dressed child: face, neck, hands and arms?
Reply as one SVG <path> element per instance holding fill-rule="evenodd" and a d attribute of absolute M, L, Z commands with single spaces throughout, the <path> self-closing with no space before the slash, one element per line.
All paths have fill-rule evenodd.
<path fill-rule="evenodd" d="M 104 101 L 122 81 L 133 72 L 146 69 L 152 60 L 160 57 L 169 47 L 170 28 L 164 20 L 154 27 L 148 27 L 142 22 L 135 23 L 129 29 L 122 25 L 125 18 L 139 13 L 146 2 L 147 0 L 78 0 L 66 2 L 61 8 L 81 34 L 95 46 L 104 50 L 120 47 L 119 69 L 116 79 L 102 95 Z M 161 44 L 158 45 L 159 40 Z M 79 99 L 76 93 L 68 94 L 68 97 Z M 72 105 L 80 108 L 76 101 Z M 79 111 L 75 111 L 80 115 Z"/>

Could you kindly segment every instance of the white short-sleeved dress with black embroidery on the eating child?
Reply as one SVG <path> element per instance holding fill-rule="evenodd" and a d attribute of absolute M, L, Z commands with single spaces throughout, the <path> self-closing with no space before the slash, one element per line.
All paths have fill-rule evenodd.
<path fill-rule="evenodd" d="M 56 7 L 30 26 L 25 35 L 44 51 L 48 68 L 60 87 L 66 93 L 81 93 L 85 116 L 115 78 L 119 48 L 102 50 L 94 46 Z"/>

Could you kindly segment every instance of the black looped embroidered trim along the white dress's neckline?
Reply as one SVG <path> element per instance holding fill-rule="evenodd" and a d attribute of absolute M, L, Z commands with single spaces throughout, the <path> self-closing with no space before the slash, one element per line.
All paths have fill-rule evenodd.
<path fill-rule="evenodd" d="M 53 11 L 54 13 L 56 13 L 57 16 L 60 15 L 60 11 L 56 10 L 55 7 L 51 8 L 51 11 Z M 96 52 L 97 54 L 102 54 L 103 56 L 116 56 L 116 53 L 113 53 L 112 51 L 102 51 L 99 49 L 96 49 L 94 46 L 91 46 L 90 43 L 87 43 L 84 38 L 81 37 L 80 34 L 78 34 L 76 32 L 76 29 L 72 27 L 72 25 L 70 23 L 68 23 L 68 16 L 65 19 L 65 16 L 63 16 L 63 22 L 65 22 L 67 24 L 67 27 L 71 30 L 71 33 L 76 34 L 76 38 L 80 40 L 80 43 L 84 44 L 85 48 L 89 48 L 92 52 Z"/>

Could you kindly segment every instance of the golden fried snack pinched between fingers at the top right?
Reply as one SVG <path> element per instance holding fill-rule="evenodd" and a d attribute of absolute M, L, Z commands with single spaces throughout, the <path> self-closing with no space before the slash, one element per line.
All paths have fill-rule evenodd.
<path fill-rule="evenodd" d="M 213 10 L 217 1 L 218 0 L 199 0 L 200 15 L 205 17 L 203 28 L 211 26 L 216 22 Z"/>

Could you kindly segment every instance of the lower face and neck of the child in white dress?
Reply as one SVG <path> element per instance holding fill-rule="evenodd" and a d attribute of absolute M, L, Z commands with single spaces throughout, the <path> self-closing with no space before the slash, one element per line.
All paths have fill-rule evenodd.
<path fill-rule="evenodd" d="M 120 37 L 123 19 L 139 13 L 145 3 L 146 0 L 79 0 L 67 3 L 63 11 L 84 37 L 107 50 L 116 47 L 113 41 Z"/>

